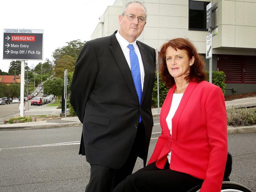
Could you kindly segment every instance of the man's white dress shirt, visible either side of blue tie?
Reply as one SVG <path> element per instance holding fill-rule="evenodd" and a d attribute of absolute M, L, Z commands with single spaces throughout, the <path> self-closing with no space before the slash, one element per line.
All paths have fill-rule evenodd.
<path fill-rule="evenodd" d="M 142 59 L 141 59 L 141 53 L 139 52 L 139 47 L 136 43 L 136 41 L 129 43 L 128 41 L 126 41 L 126 39 L 124 39 L 124 37 L 122 37 L 119 33 L 119 30 L 117 31 L 117 33 L 115 34 L 115 37 L 117 37 L 117 41 L 119 42 L 122 52 L 124 53 L 125 59 L 131 69 L 131 62 L 130 62 L 130 49 L 128 48 L 128 44 L 132 44 L 134 46 L 134 50 L 135 53 L 138 56 L 139 59 L 139 69 L 141 71 L 141 89 L 143 90 L 143 84 L 144 84 L 144 76 L 145 76 L 145 72 L 144 72 L 144 66 L 142 63 Z"/>

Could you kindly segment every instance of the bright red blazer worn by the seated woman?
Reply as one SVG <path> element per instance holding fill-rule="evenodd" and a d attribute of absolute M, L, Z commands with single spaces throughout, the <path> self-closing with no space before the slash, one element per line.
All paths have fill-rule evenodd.
<path fill-rule="evenodd" d="M 170 169 L 204 179 L 200 192 L 220 192 L 228 153 L 227 119 L 224 97 L 216 85 L 190 82 L 172 119 L 172 135 L 167 126 L 174 85 L 160 114 L 161 136 L 148 164 L 164 168 L 171 153 Z"/>

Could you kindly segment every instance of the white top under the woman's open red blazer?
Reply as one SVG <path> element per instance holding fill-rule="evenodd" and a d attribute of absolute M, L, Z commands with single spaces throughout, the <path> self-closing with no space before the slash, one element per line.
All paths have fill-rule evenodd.
<path fill-rule="evenodd" d="M 183 93 L 174 93 L 173 94 L 173 100 L 172 100 L 172 103 L 171 103 L 171 108 L 170 108 L 170 111 L 166 117 L 166 122 L 167 122 L 167 126 L 170 130 L 170 134 L 172 135 L 172 119 L 173 119 L 173 116 L 175 114 L 175 112 L 177 111 L 178 109 L 178 106 L 180 105 L 180 101 L 182 99 L 182 96 L 183 96 Z M 168 162 L 170 163 L 171 161 L 171 151 L 170 153 L 168 153 L 167 155 L 167 159 L 168 159 Z"/>

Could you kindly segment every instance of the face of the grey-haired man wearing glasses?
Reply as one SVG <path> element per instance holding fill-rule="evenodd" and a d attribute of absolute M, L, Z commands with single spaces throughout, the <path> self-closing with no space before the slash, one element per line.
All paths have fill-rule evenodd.
<path fill-rule="evenodd" d="M 119 15 L 119 33 L 128 42 L 134 42 L 143 31 L 146 22 L 138 22 L 138 18 L 135 18 L 135 20 L 129 20 L 126 16 L 129 14 L 134 15 L 135 17 L 146 18 L 146 13 L 143 6 L 138 3 L 132 3 L 126 8 L 125 15 Z"/>

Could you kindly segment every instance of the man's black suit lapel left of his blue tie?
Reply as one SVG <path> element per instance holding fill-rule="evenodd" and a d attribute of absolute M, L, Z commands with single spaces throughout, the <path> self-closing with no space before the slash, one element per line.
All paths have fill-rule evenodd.
<path fill-rule="evenodd" d="M 117 31 L 115 31 L 116 33 Z M 128 63 L 124 57 L 124 53 L 122 52 L 121 46 L 119 42 L 117 41 L 117 38 L 115 37 L 115 33 L 110 36 L 111 38 L 111 45 L 110 49 L 115 57 L 115 60 L 117 61 L 117 64 L 122 72 L 122 76 L 124 77 L 124 80 L 126 81 L 130 91 L 132 92 L 135 100 L 139 103 L 139 98 L 137 96 L 137 92 L 134 86 L 134 81 L 132 79 L 132 72 L 128 66 Z"/>

